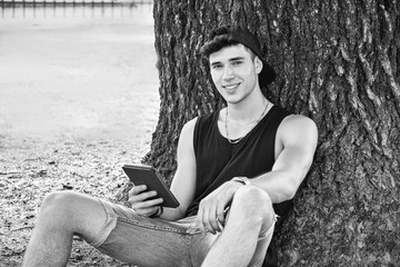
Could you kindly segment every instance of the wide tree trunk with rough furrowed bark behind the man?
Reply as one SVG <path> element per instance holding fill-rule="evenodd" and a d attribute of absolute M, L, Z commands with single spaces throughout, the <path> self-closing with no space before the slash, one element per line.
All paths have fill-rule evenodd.
<path fill-rule="evenodd" d="M 221 107 L 204 34 L 246 23 L 279 78 L 266 93 L 319 127 L 277 239 L 282 266 L 400 266 L 400 2 L 154 1 L 161 110 L 146 158 L 168 179 L 183 123 Z"/>

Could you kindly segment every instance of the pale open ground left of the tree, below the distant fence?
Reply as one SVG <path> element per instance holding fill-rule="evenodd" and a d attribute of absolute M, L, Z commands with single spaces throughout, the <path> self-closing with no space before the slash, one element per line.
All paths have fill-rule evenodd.
<path fill-rule="evenodd" d="M 18 16 L 17 16 L 18 17 Z M 46 194 L 113 200 L 158 121 L 151 8 L 0 18 L 0 266 L 19 266 Z M 126 266 L 76 239 L 69 266 Z"/>

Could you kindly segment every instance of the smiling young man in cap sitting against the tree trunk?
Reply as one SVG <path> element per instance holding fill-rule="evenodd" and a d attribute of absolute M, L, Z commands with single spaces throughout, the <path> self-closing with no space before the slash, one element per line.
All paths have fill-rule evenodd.
<path fill-rule="evenodd" d="M 132 208 L 53 192 L 41 206 L 23 266 L 64 266 L 73 235 L 140 267 L 277 265 L 274 224 L 310 168 L 316 125 L 262 95 L 260 85 L 276 73 L 247 29 L 219 28 L 201 51 L 227 107 L 182 129 L 171 185 L 180 206 L 160 208 L 162 199 L 147 200 L 157 192 L 146 186 L 130 191 Z"/>

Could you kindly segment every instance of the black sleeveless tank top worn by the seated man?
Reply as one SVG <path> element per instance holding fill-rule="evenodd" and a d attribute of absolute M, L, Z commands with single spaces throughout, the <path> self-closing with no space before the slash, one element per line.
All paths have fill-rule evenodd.
<path fill-rule="evenodd" d="M 238 144 L 230 144 L 219 131 L 219 111 L 199 117 L 193 134 L 197 164 L 194 200 L 187 216 L 194 216 L 199 202 L 223 182 L 236 176 L 249 179 L 271 171 L 274 162 L 276 134 L 280 122 L 290 115 L 273 106 L 260 122 Z M 283 218 L 292 208 L 292 201 L 274 204 L 273 209 Z M 277 222 L 279 228 L 281 219 Z M 277 266 L 277 253 L 272 241 L 263 266 Z"/>

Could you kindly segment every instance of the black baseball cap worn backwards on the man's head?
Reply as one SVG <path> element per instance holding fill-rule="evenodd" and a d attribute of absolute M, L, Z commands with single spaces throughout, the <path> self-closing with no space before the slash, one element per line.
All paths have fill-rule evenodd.
<path fill-rule="evenodd" d="M 229 42 L 239 42 L 250 48 L 260 58 L 263 63 L 262 70 L 259 73 L 259 83 L 261 87 L 271 83 L 277 78 L 273 68 L 261 56 L 260 42 L 246 27 L 236 24 L 217 28 L 210 32 L 210 42 L 212 42 L 214 37 L 221 34 L 227 34 Z M 207 46 L 207 43 L 204 46 Z M 222 49 L 222 47 L 220 49 Z"/>

